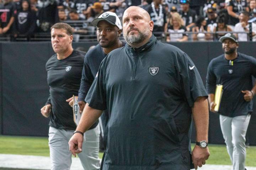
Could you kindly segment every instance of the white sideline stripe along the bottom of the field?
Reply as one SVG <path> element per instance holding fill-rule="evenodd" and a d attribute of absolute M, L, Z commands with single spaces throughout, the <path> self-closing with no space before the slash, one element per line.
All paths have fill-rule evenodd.
<path fill-rule="evenodd" d="M 0 154 L 0 168 L 21 168 L 21 169 L 50 169 L 50 157 L 32 155 Z M 247 170 L 256 170 L 256 167 L 246 166 Z M 71 170 L 82 170 L 78 158 L 72 158 Z M 231 165 L 203 165 L 198 170 L 232 170 Z"/>

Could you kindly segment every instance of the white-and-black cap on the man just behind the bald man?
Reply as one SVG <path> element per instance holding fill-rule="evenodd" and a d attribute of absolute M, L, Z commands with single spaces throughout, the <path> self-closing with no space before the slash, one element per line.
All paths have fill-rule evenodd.
<path fill-rule="evenodd" d="M 119 29 L 122 29 L 121 21 L 114 12 L 107 11 L 102 13 L 98 18 L 92 21 L 92 25 L 97 27 L 98 22 L 100 21 L 107 21 L 108 23 L 117 26 Z"/>

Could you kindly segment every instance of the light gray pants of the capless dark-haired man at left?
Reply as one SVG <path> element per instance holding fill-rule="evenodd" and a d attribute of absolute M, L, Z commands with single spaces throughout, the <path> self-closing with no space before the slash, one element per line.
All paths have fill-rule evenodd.
<path fill-rule="evenodd" d="M 70 170 L 72 155 L 69 151 L 68 141 L 73 136 L 73 132 L 73 130 L 49 128 L 51 170 Z M 99 135 L 99 126 L 84 134 L 82 152 L 78 156 L 85 170 L 100 169 Z"/>

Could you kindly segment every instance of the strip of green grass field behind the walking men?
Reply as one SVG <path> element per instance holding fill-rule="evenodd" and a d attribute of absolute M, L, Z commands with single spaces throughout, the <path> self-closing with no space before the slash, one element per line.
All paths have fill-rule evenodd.
<path fill-rule="evenodd" d="M 207 164 L 231 165 L 225 145 L 209 144 L 209 149 L 210 157 Z M 246 166 L 256 166 L 256 146 L 250 146 L 246 151 Z M 0 153 L 49 156 L 48 138 L 0 136 Z"/>

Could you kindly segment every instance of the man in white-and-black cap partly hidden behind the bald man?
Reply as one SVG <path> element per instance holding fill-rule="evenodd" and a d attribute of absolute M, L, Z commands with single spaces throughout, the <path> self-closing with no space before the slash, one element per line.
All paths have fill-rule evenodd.
<path fill-rule="evenodd" d="M 106 17 L 105 17 L 106 16 Z M 105 12 L 98 18 L 92 21 L 92 24 L 97 27 L 97 40 L 99 42 L 92 50 L 89 50 L 84 59 L 84 68 L 82 71 L 81 85 L 78 94 L 78 103 L 80 106 L 80 112 L 85 106 L 85 97 L 94 81 L 94 78 L 98 72 L 101 61 L 112 50 L 117 49 L 125 45 L 124 42 L 119 40 L 122 26 L 121 21 L 117 15 L 113 12 Z M 77 97 L 77 96 L 76 96 Z M 71 106 L 73 106 L 73 100 L 70 98 L 67 100 Z M 101 115 L 100 122 L 102 123 L 102 135 L 103 138 L 107 137 L 107 131 L 105 129 L 108 121 L 108 113 L 104 111 Z M 103 139 L 103 147 L 106 139 Z M 102 149 L 103 150 L 103 149 Z"/>

